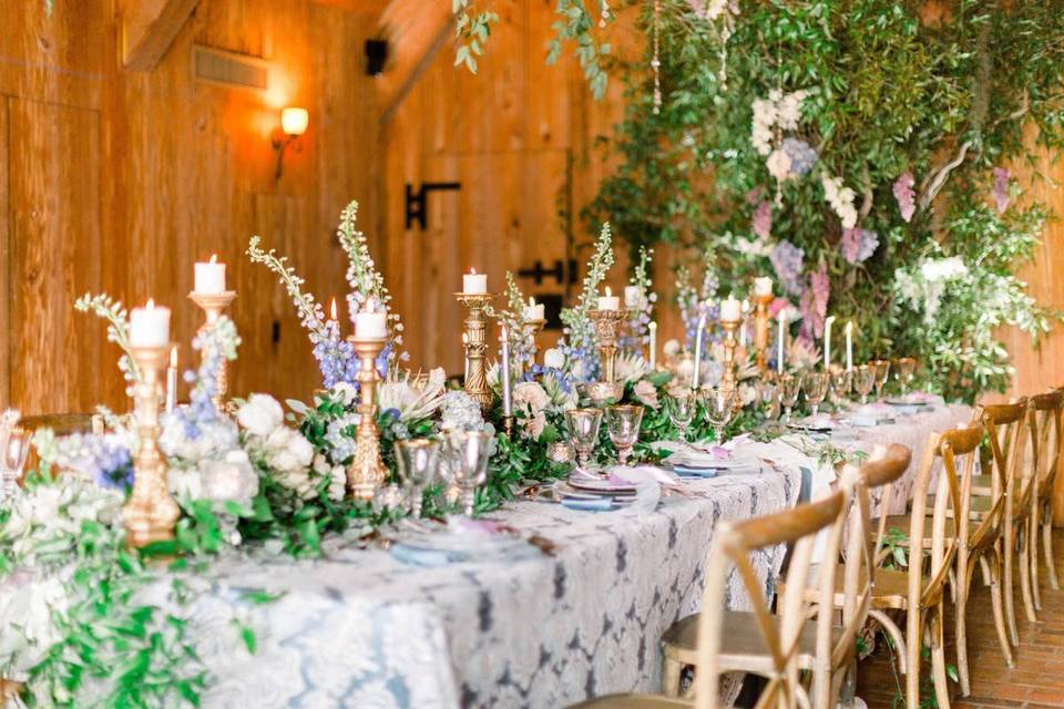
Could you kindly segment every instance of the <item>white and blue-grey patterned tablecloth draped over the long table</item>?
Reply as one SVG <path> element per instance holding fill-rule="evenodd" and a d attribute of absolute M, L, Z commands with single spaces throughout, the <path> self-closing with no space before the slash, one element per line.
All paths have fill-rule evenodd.
<path fill-rule="evenodd" d="M 912 448 L 911 486 L 928 432 L 970 415 L 940 405 L 861 429 L 857 446 Z M 202 648 L 218 679 L 204 706 L 546 709 L 653 691 L 662 633 L 700 605 L 716 523 L 790 507 L 835 479 L 785 443 L 749 445 L 776 465 L 690 482 L 704 496 L 668 496 L 652 513 L 518 502 L 492 515 L 550 540 L 553 555 L 426 568 L 340 544 L 323 561 L 226 562 L 197 610 L 217 625 Z M 780 563 L 781 551 L 757 559 L 766 583 Z M 263 606 L 236 600 L 247 588 L 284 595 Z M 733 576 L 729 605 L 746 602 Z M 255 655 L 233 649 L 234 606 L 259 634 Z"/>

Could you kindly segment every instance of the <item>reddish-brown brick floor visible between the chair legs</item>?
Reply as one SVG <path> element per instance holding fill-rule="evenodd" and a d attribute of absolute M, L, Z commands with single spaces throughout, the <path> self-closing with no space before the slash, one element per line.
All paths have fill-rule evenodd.
<path fill-rule="evenodd" d="M 1064 576 L 1064 532 L 1054 536 L 1056 567 Z M 1042 583 L 1042 612 L 1039 623 L 1027 623 L 1023 615 L 1019 578 L 1015 588 L 1016 627 L 1020 646 L 1013 649 L 1015 667 L 1010 669 L 1001 657 L 994 630 L 989 590 L 975 574 L 973 598 L 968 610 L 969 665 L 972 675 L 972 696 L 960 697 L 960 687 L 952 685 L 952 702 L 956 709 L 1064 708 L 1064 590 L 1053 590 Z M 952 625 L 953 609 L 948 609 Z M 952 639 L 948 638 L 947 661 L 954 664 Z M 927 692 L 931 689 L 931 668 L 924 666 Z M 904 678 L 899 675 L 901 687 Z M 858 671 L 858 696 L 869 709 L 901 709 L 904 705 L 893 678 L 889 653 L 877 643 L 876 653 L 867 658 Z M 897 699 L 897 703 L 896 703 Z M 931 705 L 933 706 L 933 705 Z"/>

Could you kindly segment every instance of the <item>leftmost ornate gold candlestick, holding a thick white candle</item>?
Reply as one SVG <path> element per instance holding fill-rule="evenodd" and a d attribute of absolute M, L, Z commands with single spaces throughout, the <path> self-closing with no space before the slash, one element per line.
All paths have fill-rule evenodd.
<path fill-rule="evenodd" d="M 166 461 L 158 450 L 161 373 L 166 367 L 171 346 L 132 349 L 133 359 L 141 371 L 141 381 L 134 392 L 141 450 L 133 462 L 133 492 L 122 513 L 127 543 L 141 547 L 174 538 L 174 525 L 181 511 L 170 494 Z"/>

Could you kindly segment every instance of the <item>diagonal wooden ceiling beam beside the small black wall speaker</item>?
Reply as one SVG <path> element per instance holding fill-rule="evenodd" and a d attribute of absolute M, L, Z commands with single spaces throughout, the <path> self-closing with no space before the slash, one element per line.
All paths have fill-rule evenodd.
<path fill-rule="evenodd" d="M 391 0 L 380 14 L 376 35 L 388 41 L 388 63 L 377 76 L 380 122 L 402 103 L 453 28 L 446 0 Z"/>

